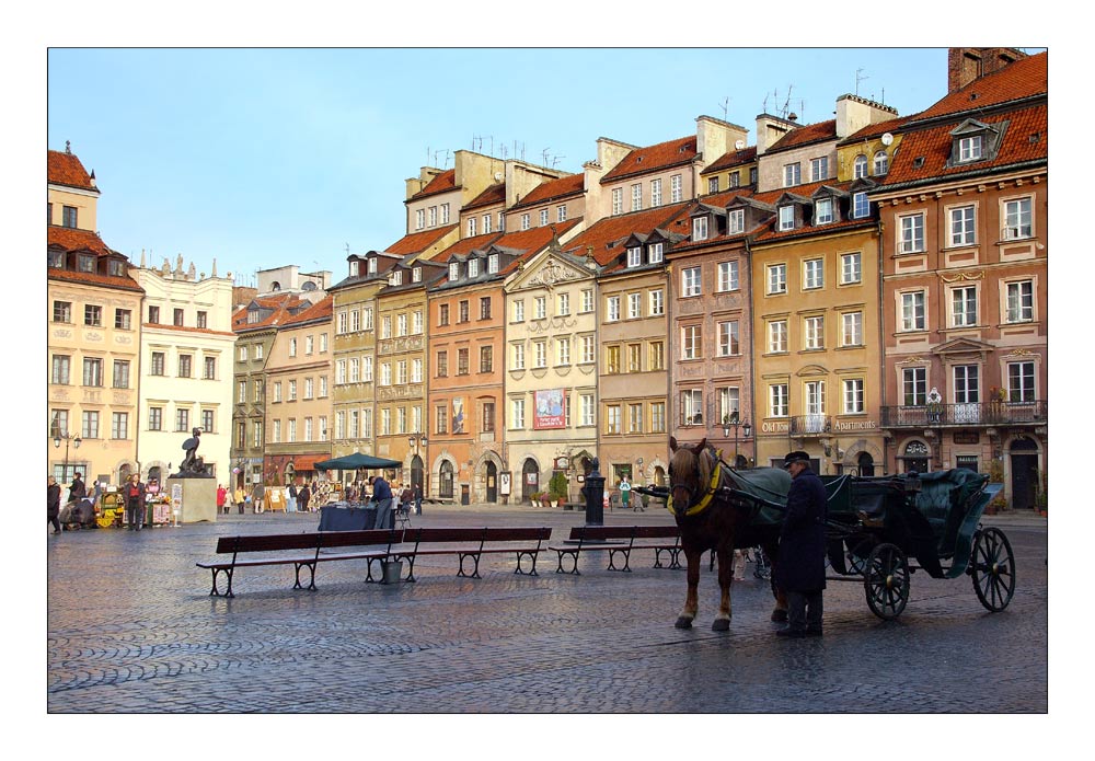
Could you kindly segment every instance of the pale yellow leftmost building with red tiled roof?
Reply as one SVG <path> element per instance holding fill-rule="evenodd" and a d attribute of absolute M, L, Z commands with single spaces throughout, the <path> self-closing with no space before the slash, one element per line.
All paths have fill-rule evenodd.
<path fill-rule="evenodd" d="M 95 233 L 99 189 L 69 150 L 47 153 L 49 471 L 118 484 L 137 468 L 143 291 Z"/>

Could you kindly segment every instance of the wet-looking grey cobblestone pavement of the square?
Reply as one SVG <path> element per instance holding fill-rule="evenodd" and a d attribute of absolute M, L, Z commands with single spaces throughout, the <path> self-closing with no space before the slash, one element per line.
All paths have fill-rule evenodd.
<path fill-rule="evenodd" d="M 832 581 L 826 635 L 785 642 L 771 595 L 733 588 L 728 633 L 711 631 L 715 575 L 700 614 L 673 629 L 683 570 L 633 573 L 584 555 L 580 576 L 514 574 L 485 557 L 482 579 L 454 557 L 415 565 L 416 584 L 365 584 L 364 564 L 331 563 L 315 592 L 292 567 L 244 568 L 234 599 L 208 596 L 218 535 L 313 531 L 316 514 L 221 517 L 142 532 L 48 537 L 50 713 L 1042 713 L 1048 710 L 1045 519 L 987 519 L 1017 556 L 1011 606 L 990 614 L 966 577 L 912 577 L 898 621 L 872 614 L 862 584 Z M 426 507 L 425 526 L 552 526 L 560 509 Z M 668 523 L 661 509 L 612 511 L 607 524 Z M 751 570 L 751 568 L 750 568 Z"/>

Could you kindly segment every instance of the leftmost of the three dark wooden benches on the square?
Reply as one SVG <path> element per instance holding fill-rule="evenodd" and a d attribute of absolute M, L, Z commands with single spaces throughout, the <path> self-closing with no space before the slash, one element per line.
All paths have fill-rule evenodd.
<path fill-rule="evenodd" d="M 232 560 L 228 562 L 197 563 L 199 568 L 208 568 L 212 572 L 212 590 L 210 596 L 221 597 L 217 587 L 217 577 L 220 574 L 228 576 L 228 589 L 223 597 L 235 597 L 232 593 L 232 577 L 237 568 L 256 567 L 263 565 L 293 565 L 297 570 L 297 580 L 293 589 L 303 589 L 300 583 L 300 569 L 308 568 L 311 572 L 309 580 L 309 591 L 315 591 L 315 566 L 320 563 L 331 561 L 368 561 L 368 581 L 372 581 L 372 562 L 383 561 L 391 555 L 393 545 L 399 544 L 403 539 L 403 532 L 397 529 L 372 529 L 369 531 L 318 531 L 314 533 L 291 533 L 291 534 L 262 534 L 256 537 L 221 537 L 217 540 L 217 554 L 231 554 Z M 371 547 L 350 553 L 321 554 L 323 550 L 334 550 L 338 547 L 362 546 Z M 381 549 L 382 547 L 382 549 Z M 255 560 L 240 560 L 241 554 L 267 552 L 291 552 L 309 551 L 308 554 L 297 556 L 260 557 Z"/>

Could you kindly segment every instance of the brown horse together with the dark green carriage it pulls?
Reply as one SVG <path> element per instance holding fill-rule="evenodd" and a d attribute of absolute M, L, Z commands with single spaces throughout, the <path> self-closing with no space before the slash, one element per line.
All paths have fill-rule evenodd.
<path fill-rule="evenodd" d="M 779 566 L 777 539 L 791 476 L 779 469 L 739 471 L 705 446 L 670 440 L 669 487 L 641 489 L 666 501 L 681 530 L 689 561 L 689 592 L 678 627 L 695 615 L 700 554 L 718 556 L 723 601 L 713 629 L 729 624 L 729 554 L 761 546 Z M 988 476 L 948 470 L 860 477 L 825 476 L 828 497 L 826 534 L 828 578 L 862 580 L 875 615 L 895 619 L 909 601 L 909 577 L 924 570 L 933 578 L 968 575 L 977 598 L 1001 611 L 1015 591 L 1011 543 L 996 528 L 982 528 L 984 507 L 1000 489 Z M 725 568 L 725 572 L 724 572 Z M 785 620 L 782 596 L 773 620 Z"/>

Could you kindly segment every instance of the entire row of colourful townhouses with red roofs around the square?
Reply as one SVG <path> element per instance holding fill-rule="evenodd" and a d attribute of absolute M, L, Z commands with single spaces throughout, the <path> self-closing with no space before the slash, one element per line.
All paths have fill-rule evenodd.
<path fill-rule="evenodd" d="M 198 427 L 240 484 L 364 452 L 458 504 L 527 500 L 556 472 L 580 500 L 595 459 L 610 484 L 665 483 L 676 437 L 741 468 L 792 449 L 827 474 L 969 468 L 1033 507 L 1047 58 L 956 48 L 948 94 L 912 116 L 843 95 L 818 124 L 759 115 L 751 145 L 700 116 L 654 146 L 600 138 L 574 174 L 458 151 L 407 180 L 406 235 L 344 278 L 281 267 L 234 295 L 216 267 L 127 265 L 90 232 L 93 175 L 50 152 L 50 214 L 91 207 L 50 218 L 55 472 L 147 473 Z M 113 361 L 112 395 L 89 361 Z M 78 457 L 59 436 L 77 420 Z"/>

